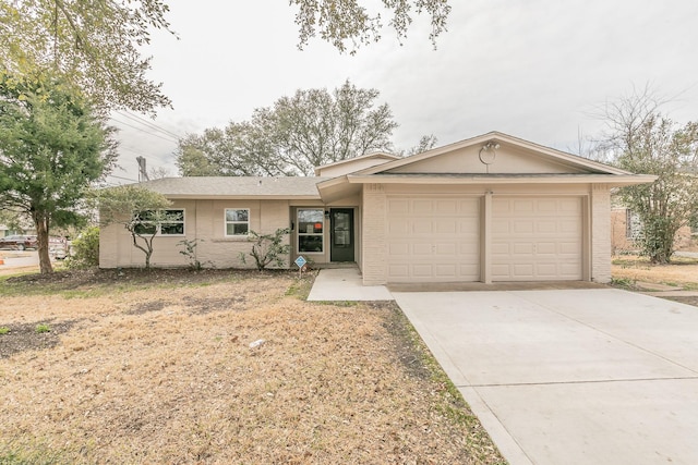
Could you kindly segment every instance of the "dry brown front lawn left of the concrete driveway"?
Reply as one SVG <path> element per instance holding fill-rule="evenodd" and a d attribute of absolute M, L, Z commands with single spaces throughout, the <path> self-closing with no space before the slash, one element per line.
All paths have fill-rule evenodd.
<path fill-rule="evenodd" d="M 395 304 L 294 277 L 0 282 L 0 463 L 504 463 Z"/>

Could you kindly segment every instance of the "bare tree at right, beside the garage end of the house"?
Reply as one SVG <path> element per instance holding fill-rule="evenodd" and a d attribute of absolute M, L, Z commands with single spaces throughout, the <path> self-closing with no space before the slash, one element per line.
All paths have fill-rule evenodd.
<path fill-rule="evenodd" d="M 639 217 L 639 245 L 654 264 L 671 260 L 676 232 L 698 211 L 698 123 L 676 124 L 660 112 L 664 102 L 646 87 L 606 103 L 607 130 L 598 146 L 617 167 L 658 176 L 618 191 Z"/>

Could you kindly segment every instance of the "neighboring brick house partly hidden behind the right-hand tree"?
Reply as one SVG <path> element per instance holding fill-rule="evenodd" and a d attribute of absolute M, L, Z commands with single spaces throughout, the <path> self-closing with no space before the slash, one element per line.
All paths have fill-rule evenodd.
<path fill-rule="evenodd" d="M 613 254 L 633 253 L 640 247 L 637 238 L 642 234 L 642 223 L 636 212 L 623 205 L 611 209 L 611 247 Z M 676 231 L 674 248 L 683 252 L 698 252 L 698 222 L 689 222 Z"/>

